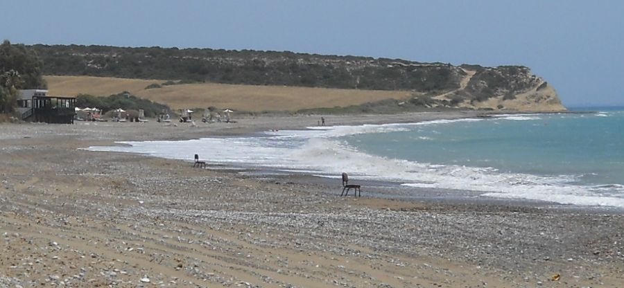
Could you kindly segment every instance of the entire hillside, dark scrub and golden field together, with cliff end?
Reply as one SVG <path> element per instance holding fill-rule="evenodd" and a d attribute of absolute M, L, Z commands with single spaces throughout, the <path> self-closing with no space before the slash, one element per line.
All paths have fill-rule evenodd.
<path fill-rule="evenodd" d="M 223 103 L 225 107 L 247 105 L 252 111 L 358 105 L 381 98 L 403 99 L 423 107 L 565 109 L 553 87 L 524 66 L 453 66 L 371 57 L 196 48 L 32 47 L 42 58 L 46 75 L 128 78 L 85 78 L 78 81 L 81 84 L 73 83 L 84 88 L 73 89 L 64 82 L 70 78 L 49 77 L 53 91 L 69 95 L 106 95 L 126 90 L 174 107 L 178 106 L 174 102 L 187 107 Z M 54 87 L 54 79 L 64 82 L 64 86 Z M 137 86 L 132 89 L 118 89 L 135 82 Z M 145 86 L 139 87 L 139 83 Z M 149 84 L 157 89 L 144 89 Z M 298 93 L 302 94 L 293 95 Z"/>

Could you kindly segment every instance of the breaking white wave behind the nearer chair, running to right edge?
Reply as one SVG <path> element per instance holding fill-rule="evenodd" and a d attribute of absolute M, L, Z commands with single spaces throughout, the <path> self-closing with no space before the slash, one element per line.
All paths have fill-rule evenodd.
<path fill-rule="evenodd" d="M 501 173 L 494 168 L 429 165 L 364 154 L 326 139 L 311 139 L 293 159 L 339 174 L 352 171 L 361 179 L 408 181 L 404 186 L 482 191 L 483 196 L 535 199 L 560 204 L 624 207 L 624 199 L 600 197 L 589 188 L 570 185 L 575 177 L 539 177 Z M 624 196 L 624 195 L 623 195 Z"/>

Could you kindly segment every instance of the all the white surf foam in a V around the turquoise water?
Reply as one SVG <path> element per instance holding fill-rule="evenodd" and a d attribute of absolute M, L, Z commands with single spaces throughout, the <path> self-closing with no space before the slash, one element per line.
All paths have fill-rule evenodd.
<path fill-rule="evenodd" d="M 399 181 L 404 186 L 484 192 L 487 197 L 554 201 L 560 204 L 624 208 L 624 189 L 575 186 L 574 177 L 539 177 L 502 173 L 494 168 L 432 165 L 365 154 L 335 137 L 361 133 L 404 131 L 432 125 L 480 119 L 435 120 L 428 123 L 324 127 L 267 132 L 264 136 L 202 138 L 190 141 L 121 142 L 128 146 L 89 147 L 92 151 L 132 152 L 192 161 L 193 154 L 210 163 L 253 165 L 282 171 L 309 172 L 324 177 L 349 172 L 358 179 Z M 616 196 L 616 197 L 614 197 Z M 618 197 L 620 196 L 620 197 Z"/>

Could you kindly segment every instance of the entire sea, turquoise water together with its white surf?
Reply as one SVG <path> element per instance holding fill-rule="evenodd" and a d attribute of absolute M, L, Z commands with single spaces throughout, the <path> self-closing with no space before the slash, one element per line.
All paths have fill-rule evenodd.
<path fill-rule="evenodd" d="M 420 123 L 308 127 L 189 141 L 120 142 L 93 151 L 229 168 L 462 190 L 483 199 L 524 199 L 624 208 L 624 109 L 498 114 Z M 593 111 L 592 111 L 593 110 Z"/>

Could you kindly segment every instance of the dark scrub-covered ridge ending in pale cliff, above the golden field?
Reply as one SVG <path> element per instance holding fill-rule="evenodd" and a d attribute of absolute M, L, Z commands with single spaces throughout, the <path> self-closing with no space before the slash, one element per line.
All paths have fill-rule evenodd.
<path fill-rule="evenodd" d="M 560 111 L 545 80 L 524 66 L 453 66 L 275 51 L 34 45 L 46 75 L 289 87 L 410 91 L 426 107 Z"/>

